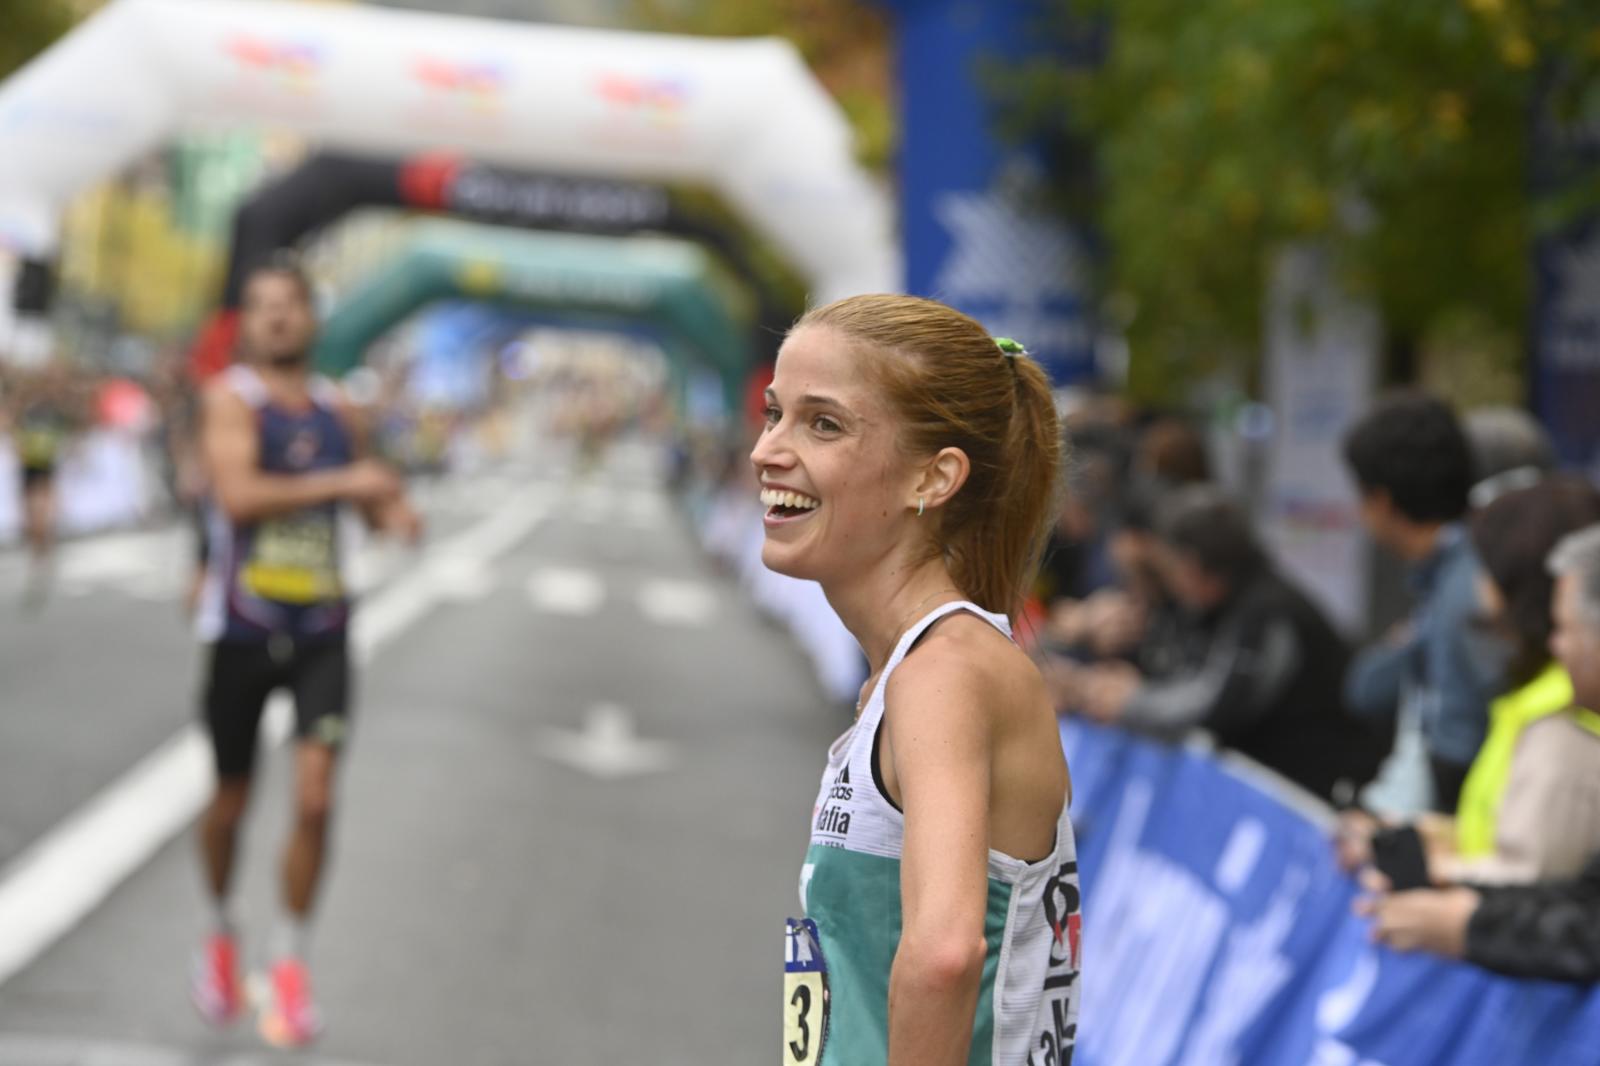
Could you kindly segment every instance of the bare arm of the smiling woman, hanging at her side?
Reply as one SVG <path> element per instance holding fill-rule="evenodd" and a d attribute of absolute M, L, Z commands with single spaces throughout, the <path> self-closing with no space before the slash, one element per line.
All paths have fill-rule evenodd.
<path fill-rule="evenodd" d="M 904 663 L 885 693 L 898 712 L 885 712 L 882 754 L 906 812 L 890 1066 L 966 1063 L 984 968 L 990 715 L 971 664 L 936 650 Z"/>

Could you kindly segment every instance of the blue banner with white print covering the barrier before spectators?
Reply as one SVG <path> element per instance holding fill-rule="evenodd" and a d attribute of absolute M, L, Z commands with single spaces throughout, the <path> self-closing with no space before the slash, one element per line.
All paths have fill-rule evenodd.
<path fill-rule="evenodd" d="M 1600 1064 L 1600 989 L 1373 944 L 1312 800 L 1077 720 L 1062 744 L 1085 900 L 1077 1066 Z"/>

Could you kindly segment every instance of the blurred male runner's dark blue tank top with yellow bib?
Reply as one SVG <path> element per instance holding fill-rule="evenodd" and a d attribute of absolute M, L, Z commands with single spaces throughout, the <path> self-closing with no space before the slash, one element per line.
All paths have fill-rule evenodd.
<path fill-rule="evenodd" d="M 309 474 L 354 459 L 333 383 L 314 378 L 310 407 L 290 410 L 270 402 L 250 367 L 226 375 L 256 413 L 261 471 Z M 203 640 L 320 640 L 344 632 L 350 602 L 339 504 L 235 523 L 213 503 L 206 522 L 213 551 L 198 618 Z"/>

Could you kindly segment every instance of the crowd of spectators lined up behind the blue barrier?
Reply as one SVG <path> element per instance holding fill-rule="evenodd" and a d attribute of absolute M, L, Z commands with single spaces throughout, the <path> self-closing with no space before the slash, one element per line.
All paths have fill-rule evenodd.
<path fill-rule="evenodd" d="M 1365 643 L 1274 560 L 1176 418 L 1069 421 L 1035 655 L 1062 714 L 1197 731 L 1339 810 L 1373 935 L 1600 981 L 1600 490 L 1522 411 L 1382 397 L 1346 434 L 1408 607 Z M 1429 794 L 1384 802 L 1410 773 Z"/>

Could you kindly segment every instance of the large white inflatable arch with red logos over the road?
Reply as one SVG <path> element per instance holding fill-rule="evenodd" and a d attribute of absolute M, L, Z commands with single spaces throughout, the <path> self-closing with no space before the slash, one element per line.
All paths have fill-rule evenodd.
<path fill-rule="evenodd" d="M 48 258 L 70 197 L 176 133 L 240 125 L 699 182 L 813 298 L 901 285 L 888 200 L 784 40 L 290 0 L 112 0 L 0 85 L 0 245 Z"/>

